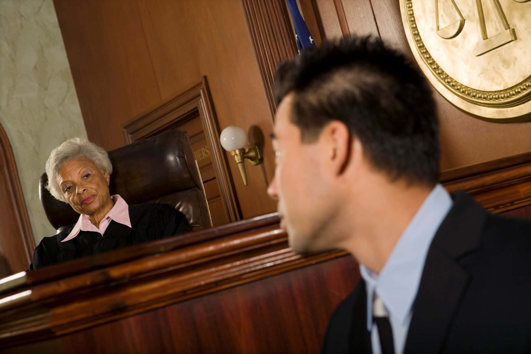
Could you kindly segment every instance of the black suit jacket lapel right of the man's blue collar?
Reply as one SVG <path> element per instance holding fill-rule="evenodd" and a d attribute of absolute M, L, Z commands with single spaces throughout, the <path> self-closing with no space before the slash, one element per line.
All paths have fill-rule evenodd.
<path fill-rule="evenodd" d="M 487 213 L 464 192 L 454 204 L 430 246 L 422 273 L 404 352 L 438 353 L 469 283 L 459 258 L 479 246 Z"/>

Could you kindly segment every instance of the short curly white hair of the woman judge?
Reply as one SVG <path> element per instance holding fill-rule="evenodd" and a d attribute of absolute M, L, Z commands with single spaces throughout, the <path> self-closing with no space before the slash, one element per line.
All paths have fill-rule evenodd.
<path fill-rule="evenodd" d="M 98 169 L 103 170 L 106 174 L 110 175 L 113 172 L 113 165 L 110 163 L 109 155 L 103 148 L 83 137 L 68 139 L 52 150 L 48 161 L 46 161 L 46 175 L 48 175 L 46 189 L 56 199 L 66 202 L 57 180 L 59 169 L 65 162 L 79 158 L 90 159 Z"/>

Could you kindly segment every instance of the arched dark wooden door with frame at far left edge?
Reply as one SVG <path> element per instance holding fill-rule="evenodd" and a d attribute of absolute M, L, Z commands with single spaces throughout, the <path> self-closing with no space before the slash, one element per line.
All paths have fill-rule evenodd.
<path fill-rule="evenodd" d="M 11 144 L 0 125 L 0 278 L 28 269 L 35 249 Z M 9 273 L 9 274 L 7 274 Z"/>

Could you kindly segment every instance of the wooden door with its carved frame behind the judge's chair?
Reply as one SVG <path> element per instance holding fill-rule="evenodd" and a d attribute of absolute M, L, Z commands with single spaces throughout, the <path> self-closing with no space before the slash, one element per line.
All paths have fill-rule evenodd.
<path fill-rule="evenodd" d="M 228 160 L 219 142 L 219 125 L 207 77 L 203 76 L 193 87 L 126 123 L 123 131 L 127 143 L 133 143 L 173 128 L 189 132 L 192 150 L 206 185 L 212 225 L 241 219 Z"/>

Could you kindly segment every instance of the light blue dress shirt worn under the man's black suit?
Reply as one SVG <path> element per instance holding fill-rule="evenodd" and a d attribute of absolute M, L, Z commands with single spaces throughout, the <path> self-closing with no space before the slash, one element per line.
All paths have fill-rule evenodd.
<path fill-rule="evenodd" d="M 426 255 L 435 233 L 452 207 L 450 194 L 436 185 L 398 239 L 380 274 L 360 265 L 367 289 L 367 330 L 371 331 L 372 352 L 380 354 L 378 327 L 373 323 L 374 292 L 389 313 L 395 353 L 404 352 L 412 305 L 421 282 Z"/>

